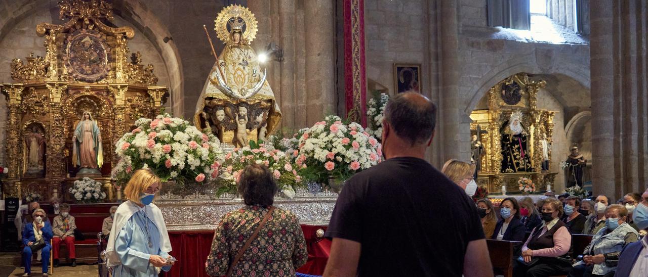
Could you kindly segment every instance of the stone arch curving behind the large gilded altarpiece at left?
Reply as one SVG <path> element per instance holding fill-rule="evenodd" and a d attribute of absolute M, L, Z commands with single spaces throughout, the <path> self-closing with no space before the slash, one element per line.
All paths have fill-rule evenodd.
<path fill-rule="evenodd" d="M 56 22 L 59 20 L 56 2 L 47 0 L 0 1 L 0 14 L 10 15 L 0 17 L 0 41 L 5 38 L 8 32 L 11 32 L 17 22 L 22 21 L 40 10 L 49 10 L 52 13 L 52 19 L 55 23 L 60 23 Z M 165 63 L 164 70 L 167 71 L 169 78 L 168 88 L 171 94 L 171 108 L 175 114 L 181 115 L 184 96 L 183 69 L 176 45 L 172 42 L 164 42 L 164 38 L 170 35 L 168 28 L 162 24 L 161 19 L 150 8 L 146 8 L 141 0 L 113 1 L 113 12 L 115 16 L 119 16 L 134 25 L 141 34 L 144 34 L 162 57 Z M 156 34 L 158 35 L 156 36 Z"/>

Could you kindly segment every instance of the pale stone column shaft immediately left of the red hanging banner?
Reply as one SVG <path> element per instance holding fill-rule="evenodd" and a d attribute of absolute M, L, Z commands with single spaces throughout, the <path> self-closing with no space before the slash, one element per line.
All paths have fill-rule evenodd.
<path fill-rule="evenodd" d="M 333 4 L 334 0 L 304 1 L 308 126 L 336 113 Z"/>

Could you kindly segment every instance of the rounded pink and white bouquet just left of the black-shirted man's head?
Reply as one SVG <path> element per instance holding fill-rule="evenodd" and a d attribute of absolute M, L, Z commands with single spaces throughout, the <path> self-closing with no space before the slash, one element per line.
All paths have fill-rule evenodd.
<path fill-rule="evenodd" d="M 343 181 L 378 164 L 380 148 L 360 124 L 346 125 L 339 116 L 330 115 L 299 138 L 295 164 L 305 179 L 330 186 L 329 179 Z"/>

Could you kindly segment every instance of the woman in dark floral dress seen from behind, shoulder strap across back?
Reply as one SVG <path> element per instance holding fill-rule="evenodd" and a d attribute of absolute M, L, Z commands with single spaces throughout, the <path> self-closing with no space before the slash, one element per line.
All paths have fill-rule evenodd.
<path fill-rule="evenodd" d="M 276 192 L 277 184 L 266 166 L 251 164 L 243 170 L 238 193 L 246 206 L 220 219 L 205 262 L 207 274 L 227 274 L 235 256 L 272 207 Z M 306 241 L 297 216 L 275 208 L 232 269 L 231 276 L 295 276 L 295 270 L 305 264 L 307 258 Z"/>

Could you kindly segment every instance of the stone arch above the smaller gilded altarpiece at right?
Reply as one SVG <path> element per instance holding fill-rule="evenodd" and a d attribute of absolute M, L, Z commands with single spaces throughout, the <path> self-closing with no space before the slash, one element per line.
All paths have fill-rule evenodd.
<path fill-rule="evenodd" d="M 529 62 L 529 56 L 533 58 L 534 62 Z M 468 94 L 467 96 L 470 96 L 472 93 L 472 98 L 470 98 L 470 102 L 464 109 L 464 113 L 470 115 L 474 107 L 476 107 L 481 98 L 486 95 L 493 85 L 508 76 L 520 72 L 527 72 L 529 74 L 563 74 L 581 83 L 584 87 L 588 89 L 590 88 L 590 76 L 588 74 L 583 74 L 582 69 L 577 69 L 571 64 L 561 65 L 560 67 L 552 69 L 541 69 L 538 64 L 535 63 L 535 54 L 529 54 L 527 56 L 519 56 L 517 58 L 512 58 L 511 60 L 503 61 L 491 69 L 491 71 L 484 74 L 480 83 L 473 85 L 469 91 L 465 92 Z"/>

